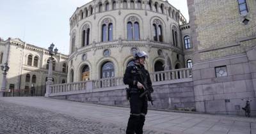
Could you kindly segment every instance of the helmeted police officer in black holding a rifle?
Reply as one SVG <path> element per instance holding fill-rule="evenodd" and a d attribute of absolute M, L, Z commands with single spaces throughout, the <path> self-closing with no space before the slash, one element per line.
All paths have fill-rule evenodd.
<path fill-rule="evenodd" d="M 150 93 L 153 93 L 152 82 L 150 75 L 145 69 L 145 52 L 137 52 L 134 56 L 134 64 L 127 66 L 124 74 L 124 84 L 129 85 L 127 93 L 130 101 L 131 114 L 127 124 L 127 134 L 142 134 L 143 125 L 145 123 L 145 115 L 147 114 L 148 102 L 152 98 Z M 153 104 L 153 103 L 152 103 Z"/>

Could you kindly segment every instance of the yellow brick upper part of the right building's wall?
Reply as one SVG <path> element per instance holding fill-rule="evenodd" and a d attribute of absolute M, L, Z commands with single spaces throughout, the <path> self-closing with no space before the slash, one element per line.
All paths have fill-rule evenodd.
<path fill-rule="evenodd" d="M 255 41 L 242 41 L 243 38 L 255 36 L 256 31 L 256 1 L 247 0 L 249 9 L 246 19 L 239 13 L 237 0 L 195 0 L 196 38 L 200 42 L 198 50 L 212 49 L 211 52 L 201 52 L 200 59 L 213 59 L 244 52 L 245 47 L 256 45 Z M 241 47 L 215 48 L 241 44 Z"/>

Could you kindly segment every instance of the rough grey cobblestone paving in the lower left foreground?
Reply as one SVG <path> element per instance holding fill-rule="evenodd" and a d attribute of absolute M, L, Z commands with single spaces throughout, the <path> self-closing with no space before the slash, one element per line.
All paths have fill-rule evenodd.
<path fill-rule="evenodd" d="M 0 101 L 0 133 L 125 133 L 125 126 Z M 157 133 L 146 130 L 145 133 Z"/>

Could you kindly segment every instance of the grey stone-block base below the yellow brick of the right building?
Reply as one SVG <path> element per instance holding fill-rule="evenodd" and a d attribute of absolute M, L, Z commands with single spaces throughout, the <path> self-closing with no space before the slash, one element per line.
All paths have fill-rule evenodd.
<path fill-rule="evenodd" d="M 250 63 L 255 64 L 253 62 L 255 61 Z M 244 115 L 241 108 L 244 107 L 245 100 L 252 100 L 251 110 L 252 115 L 255 115 L 255 82 L 252 79 L 252 69 L 255 67 L 250 63 L 245 54 L 239 54 L 194 64 L 196 110 L 215 114 Z M 216 77 L 217 66 L 227 66 L 227 76 Z"/>

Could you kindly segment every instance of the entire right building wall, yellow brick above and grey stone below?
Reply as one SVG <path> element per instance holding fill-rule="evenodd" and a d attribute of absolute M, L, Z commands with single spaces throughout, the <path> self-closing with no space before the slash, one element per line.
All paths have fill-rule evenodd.
<path fill-rule="evenodd" d="M 242 115 L 252 100 L 255 115 L 256 1 L 246 1 L 247 13 L 231 0 L 188 0 L 188 9 L 196 110 Z"/>

